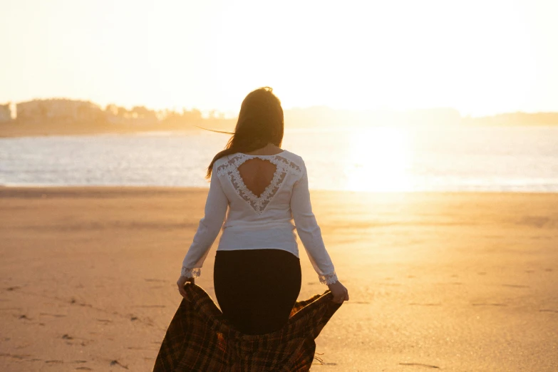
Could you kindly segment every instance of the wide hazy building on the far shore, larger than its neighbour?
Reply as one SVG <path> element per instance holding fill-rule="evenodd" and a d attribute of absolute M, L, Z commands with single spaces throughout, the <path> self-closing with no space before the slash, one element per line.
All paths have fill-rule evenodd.
<path fill-rule="evenodd" d="M 49 99 L 18 103 L 17 118 L 22 121 L 93 122 L 103 116 L 98 105 L 84 100 Z"/>

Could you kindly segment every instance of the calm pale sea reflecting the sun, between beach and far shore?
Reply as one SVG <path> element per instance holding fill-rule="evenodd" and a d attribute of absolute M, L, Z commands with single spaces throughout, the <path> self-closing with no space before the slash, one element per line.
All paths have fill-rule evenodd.
<path fill-rule="evenodd" d="M 208 187 L 229 136 L 0 138 L 0 185 Z M 558 126 L 286 130 L 316 190 L 558 192 Z"/>

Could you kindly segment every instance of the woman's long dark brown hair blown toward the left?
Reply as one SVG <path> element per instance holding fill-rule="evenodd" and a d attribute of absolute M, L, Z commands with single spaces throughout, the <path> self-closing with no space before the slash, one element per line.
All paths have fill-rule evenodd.
<path fill-rule="evenodd" d="M 284 132 L 281 101 L 269 86 L 248 93 L 240 106 L 237 126 L 224 150 L 211 160 L 207 167 L 207 178 L 211 177 L 213 163 L 221 157 L 234 153 L 249 153 L 263 148 L 268 143 L 281 147 Z M 227 132 L 224 132 L 227 133 Z"/>

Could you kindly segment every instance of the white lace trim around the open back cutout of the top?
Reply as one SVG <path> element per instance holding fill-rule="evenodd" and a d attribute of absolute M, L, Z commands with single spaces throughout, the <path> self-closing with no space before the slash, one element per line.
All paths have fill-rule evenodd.
<path fill-rule="evenodd" d="M 262 195 L 259 195 L 259 197 L 254 195 L 254 193 L 250 191 L 246 185 L 244 185 L 242 176 L 238 171 L 238 167 L 242 165 L 243 162 L 252 159 L 253 157 L 268 160 L 276 167 L 272 182 L 267 185 L 266 189 L 262 192 Z M 259 215 L 264 212 L 267 205 L 269 205 L 269 202 L 272 201 L 273 197 L 279 190 L 279 187 L 281 187 L 287 172 L 289 171 L 294 172 L 296 175 L 300 175 L 302 172 L 299 165 L 296 165 L 291 160 L 279 155 L 275 155 L 273 157 L 269 157 L 267 155 L 260 157 L 258 155 L 237 154 L 231 157 L 229 161 L 223 165 L 219 165 L 219 167 L 217 167 L 217 175 L 229 175 L 229 177 L 231 177 L 234 190 L 236 190 L 238 195 L 240 195 L 240 197 L 242 197 L 242 199 L 244 199 Z"/>

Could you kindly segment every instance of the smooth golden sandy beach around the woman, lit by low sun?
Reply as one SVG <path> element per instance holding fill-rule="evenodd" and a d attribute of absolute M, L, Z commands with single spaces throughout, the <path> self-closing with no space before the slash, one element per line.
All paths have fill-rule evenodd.
<path fill-rule="evenodd" d="M 150 371 L 206 195 L 0 188 L 0 371 Z M 558 371 L 558 194 L 312 200 L 351 296 L 312 371 Z"/>

